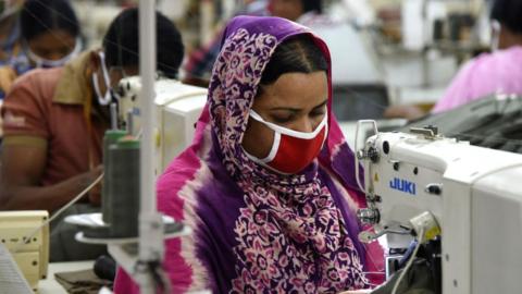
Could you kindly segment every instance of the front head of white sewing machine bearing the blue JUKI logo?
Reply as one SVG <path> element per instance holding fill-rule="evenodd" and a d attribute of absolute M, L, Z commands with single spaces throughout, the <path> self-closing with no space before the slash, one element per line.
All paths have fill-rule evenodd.
<path fill-rule="evenodd" d="M 427 130 L 427 128 L 426 128 Z M 365 143 L 358 152 L 364 164 L 364 185 L 368 192 L 366 209 L 359 211 L 360 219 L 374 225 L 375 234 L 364 233 L 362 241 L 369 242 L 383 234 L 387 235 L 390 248 L 406 248 L 412 241 L 409 220 L 423 211 L 431 211 L 442 221 L 443 174 L 445 157 L 450 154 L 439 149 L 456 143 L 442 138 L 436 130 L 419 133 L 380 133 Z M 421 150 L 422 148 L 426 150 Z"/>

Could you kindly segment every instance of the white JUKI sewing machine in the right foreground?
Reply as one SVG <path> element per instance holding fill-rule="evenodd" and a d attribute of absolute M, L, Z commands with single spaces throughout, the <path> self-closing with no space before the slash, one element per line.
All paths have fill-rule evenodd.
<path fill-rule="evenodd" d="M 389 247 L 407 247 L 413 237 L 397 233 L 410 232 L 410 220 L 431 211 L 442 229 L 444 294 L 521 292 L 521 155 L 426 127 L 378 133 L 358 158 L 369 204 L 359 217 L 375 230 L 362 238 L 386 234 Z"/>

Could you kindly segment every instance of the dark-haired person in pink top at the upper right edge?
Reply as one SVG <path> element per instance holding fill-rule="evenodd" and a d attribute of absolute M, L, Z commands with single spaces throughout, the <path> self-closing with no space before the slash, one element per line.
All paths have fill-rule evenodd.
<path fill-rule="evenodd" d="M 433 112 L 442 112 L 492 94 L 522 95 L 522 1 L 494 0 L 492 53 L 470 60 L 451 81 Z"/>

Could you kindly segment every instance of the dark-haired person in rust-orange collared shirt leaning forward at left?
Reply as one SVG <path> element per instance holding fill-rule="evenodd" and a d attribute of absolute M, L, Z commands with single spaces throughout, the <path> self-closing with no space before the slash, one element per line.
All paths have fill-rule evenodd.
<path fill-rule="evenodd" d="M 176 77 L 184 52 L 179 32 L 157 13 L 157 34 L 158 71 Z M 125 75 L 138 73 L 138 11 L 128 9 L 111 23 L 102 50 L 17 79 L 2 109 L 0 210 L 52 212 L 98 177 L 101 142 L 110 122 L 108 105 L 114 99 L 111 88 Z M 79 205 L 90 209 L 99 201 L 99 194 L 91 193 Z M 70 213 L 78 212 L 73 210 L 79 205 Z M 74 230 L 59 235 L 59 228 L 51 224 L 51 231 L 52 261 L 97 257 L 74 241 Z"/>

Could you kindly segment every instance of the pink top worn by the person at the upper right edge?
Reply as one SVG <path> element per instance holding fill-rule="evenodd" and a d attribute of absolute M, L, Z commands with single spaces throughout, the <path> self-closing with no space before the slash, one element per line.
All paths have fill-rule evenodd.
<path fill-rule="evenodd" d="M 522 47 L 484 53 L 457 74 L 432 112 L 442 112 L 492 94 L 522 94 Z"/>

